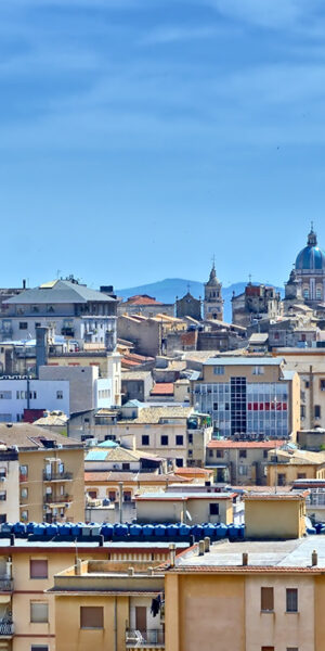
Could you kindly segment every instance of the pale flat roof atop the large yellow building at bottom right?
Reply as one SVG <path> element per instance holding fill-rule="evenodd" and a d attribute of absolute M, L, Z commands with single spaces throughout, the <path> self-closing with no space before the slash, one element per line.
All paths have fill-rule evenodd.
<path fill-rule="evenodd" d="M 317 552 L 317 565 L 311 566 L 312 552 Z M 248 553 L 248 564 L 243 566 L 243 552 Z M 229 572 L 324 572 L 325 537 L 309 536 L 296 540 L 252 540 L 230 542 L 223 540 L 211 545 L 210 551 L 198 556 L 197 546 L 177 557 L 171 572 L 219 571 Z"/>

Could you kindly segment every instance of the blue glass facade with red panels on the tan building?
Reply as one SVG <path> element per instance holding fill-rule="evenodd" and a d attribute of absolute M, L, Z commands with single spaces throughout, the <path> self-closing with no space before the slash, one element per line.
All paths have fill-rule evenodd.
<path fill-rule="evenodd" d="M 289 435 L 287 382 L 230 382 L 197 384 L 194 404 L 209 413 L 221 436 L 262 434 L 270 438 Z"/>

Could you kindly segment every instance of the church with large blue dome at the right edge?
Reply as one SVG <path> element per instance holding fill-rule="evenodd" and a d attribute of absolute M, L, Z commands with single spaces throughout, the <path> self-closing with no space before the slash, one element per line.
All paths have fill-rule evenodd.
<path fill-rule="evenodd" d="M 300 302 L 312 308 L 325 302 L 325 254 L 318 247 L 313 226 L 286 284 L 286 309 Z"/>

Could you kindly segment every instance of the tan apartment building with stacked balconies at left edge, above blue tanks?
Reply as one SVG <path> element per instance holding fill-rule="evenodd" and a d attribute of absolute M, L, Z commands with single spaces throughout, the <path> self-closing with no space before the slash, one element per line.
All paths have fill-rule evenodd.
<path fill-rule="evenodd" d="M 83 520 L 82 444 L 28 423 L 1 423 L 0 443 L 17 450 L 20 464 L 18 477 L 15 464 L 6 471 L 3 522 L 13 516 L 16 502 L 17 520 L 23 522 Z M 2 465 L 5 468 L 0 455 L 0 474 Z"/>

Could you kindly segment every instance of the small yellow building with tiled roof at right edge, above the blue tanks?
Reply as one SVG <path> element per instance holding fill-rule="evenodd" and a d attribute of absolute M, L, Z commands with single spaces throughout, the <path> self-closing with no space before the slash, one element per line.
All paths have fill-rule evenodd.
<path fill-rule="evenodd" d="M 285 486 L 297 480 L 325 478 L 325 452 L 275 448 L 269 452 L 268 485 Z"/>

